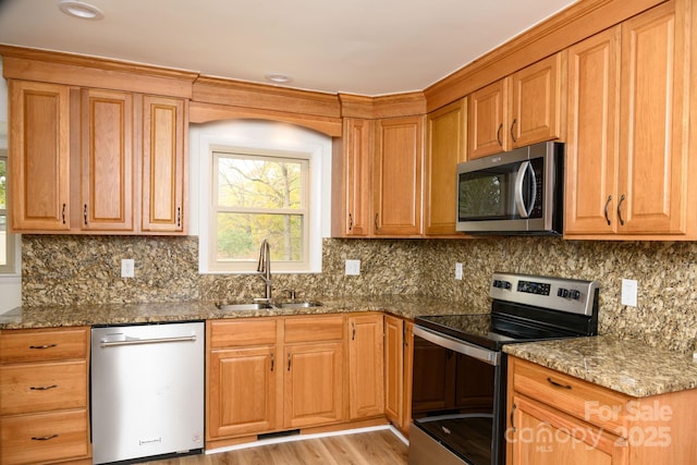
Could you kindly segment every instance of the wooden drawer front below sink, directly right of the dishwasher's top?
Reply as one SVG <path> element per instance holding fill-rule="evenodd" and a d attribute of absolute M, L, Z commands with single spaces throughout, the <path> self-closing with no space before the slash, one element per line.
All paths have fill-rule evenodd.
<path fill-rule="evenodd" d="M 211 348 L 276 344 L 276 319 L 239 319 L 209 322 Z"/>

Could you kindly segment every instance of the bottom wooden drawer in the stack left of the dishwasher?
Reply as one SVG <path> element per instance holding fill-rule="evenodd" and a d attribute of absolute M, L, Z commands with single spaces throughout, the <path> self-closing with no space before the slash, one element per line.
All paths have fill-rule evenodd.
<path fill-rule="evenodd" d="M 87 411 L 0 418 L 0 463 L 54 463 L 89 453 Z"/>

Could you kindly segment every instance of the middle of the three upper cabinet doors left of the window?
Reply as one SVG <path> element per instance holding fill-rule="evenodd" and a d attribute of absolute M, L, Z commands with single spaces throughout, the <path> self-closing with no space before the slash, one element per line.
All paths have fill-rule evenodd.
<path fill-rule="evenodd" d="M 82 90 L 81 224 L 133 231 L 133 95 Z"/>

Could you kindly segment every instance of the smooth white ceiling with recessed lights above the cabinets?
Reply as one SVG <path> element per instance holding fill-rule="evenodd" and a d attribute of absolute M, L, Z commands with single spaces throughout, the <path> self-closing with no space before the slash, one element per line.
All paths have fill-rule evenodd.
<path fill-rule="evenodd" d="M 0 44 L 366 96 L 421 90 L 574 0 L 0 0 Z"/>

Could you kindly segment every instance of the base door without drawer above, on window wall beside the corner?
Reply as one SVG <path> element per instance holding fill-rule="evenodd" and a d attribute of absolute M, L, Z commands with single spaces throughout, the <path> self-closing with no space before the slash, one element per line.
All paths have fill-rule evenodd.
<path fill-rule="evenodd" d="M 351 419 L 382 415 L 382 315 L 348 318 L 348 412 Z"/>

